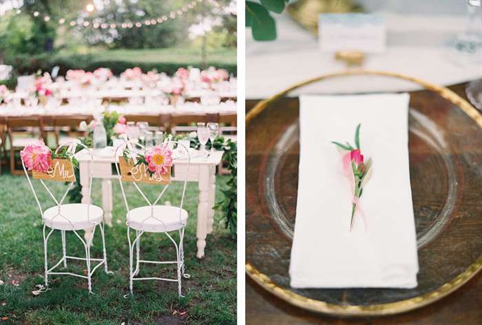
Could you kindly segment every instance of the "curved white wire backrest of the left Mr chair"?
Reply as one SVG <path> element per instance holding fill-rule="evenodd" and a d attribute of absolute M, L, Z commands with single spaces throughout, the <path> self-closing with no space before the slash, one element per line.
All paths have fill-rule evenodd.
<path fill-rule="evenodd" d="M 75 153 L 75 150 L 76 150 L 76 146 L 80 146 L 80 147 L 83 147 L 83 149 L 87 150 L 87 154 L 90 158 L 90 160 L 88 160 L 87 162 L 87 168 L 88 168 L 88 175 L 89 175 L 89 193 L 88 193 L 88 197 L 87 197 L 87 222 L 90 222 L 90 198 L 91 198 L 91 193 L 92 193 L 92 162 L 94 161 L 94 157 L 92 156 L 92 153 L 90 152 L 89 148 L 87 148 L 85 145 L 83 145 L 83 143 L 80 143 L 78 141 L 73 141 L 71 143 L 67 143 L 65 145 L 61 145 L 59 146 L 56 150 L 55 150 L 55 153 L 58 154 L 59 151 L 61 150 L 62 147 L 67 147 L 67 151 L 70 151 L 72 152 L 73 154 Z M 37 193 L 32 185 L 32 180 L 30 180 L 30 176 L 28 174 L 28 171 L 27 171 L 27 168 L 25 167 L 25 162 L 22 160 L 22 166 L 23 166 L 23 171 L 25 172 L 25 176 L 27 177 L 27 180 L 28 180 L 28 185 L 30 185 L 30 189 L 32 189 L 32 192 L 34 193 L 34 198 L 36 200 L 36 203 L 37 205 L 39 206 L 39 210 L 40 210 L 40 213 L 41 213 L 41 216 L 42 216 L 42 220 L 43 220 L 43 209 L 42 209 L 42 206 L 40 204 L 40 200 L 39 200 L 39 197 L 37 196 Z M 52 169 L 52 168 L 51 168 Z M 63 169 L 64 171 L 64 169 Z M 61 171 L 61 174 L 63 174 L 63 171 Z M 72 170 L 73 171 L 73 170 Z M 65 177 L 42 177 L 37 174 L 35 175 L 36 171 L 33 171 L 32 172 L 32 178 L 33 179 L 38 179 L 41 184 L 43 185 L 45 191 L 48 192 L 48 194 L 50 195 L 50 197 L 54 200 L 56 206 L 58 207 L 58 213 L 56 216 L 54 216 L 54 218 L 63 218 L 64 220 L 67 220 L 68 222 L 70 222 L 70 224 L 72 225 L 72 228 L 74 227 L 72 222 L 70 221 L 70 219 L 68 218 L 68 216 L 63 216 L 61 214 L 61 205 L 63 203 L 63 201 L 65 200 L 65 198 L 67 197 L 67 193 L 70 191 L 70 189 L 72 189 L 74 183 L 75 183 L 75 179 L 72 179 L 70 176 L 71 175 L 68 175 L 69 177 L 65 176 Z M 57 173 L 57 171 L 55 169 L 52 169 L 49 171 L 49 174 L 52 174 L 54 175 L 53 173 Z M 56 174 L 58 175 L 58 174 Z M 63 196 L 60 200 L 57 200 L 54 196 L 54 193 L 52 193 L 51 189 L 48 187 L 48 185 L 45 184 L 45 182 L 43 181 L 44 179 L 51 179 L 51 180 L 54 180 L 54 181 L 60 181 L 60 182 L 69 182 L 69 186 L 67 187 L 67 190 L 65 190 L 65 193 L 63 193 Z M 53 221 L 53 219 L 52 219 Z"/>

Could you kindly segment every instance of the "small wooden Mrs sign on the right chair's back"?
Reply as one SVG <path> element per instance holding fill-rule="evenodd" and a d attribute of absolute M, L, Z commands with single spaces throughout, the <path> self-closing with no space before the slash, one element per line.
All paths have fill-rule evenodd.
<path fill-rule="evenodd" d="M 167 167 L 165 175 L 150 175 L 147 166 L 140 164 L 134 166 L 134 162 L 127 162 L 124 158 L 119 158 L 119 168 L 121 169 L 121 180 L 124 182 L 143 182 L 147 184 L 166 185 L 171 182 L 171 167 Z"/>

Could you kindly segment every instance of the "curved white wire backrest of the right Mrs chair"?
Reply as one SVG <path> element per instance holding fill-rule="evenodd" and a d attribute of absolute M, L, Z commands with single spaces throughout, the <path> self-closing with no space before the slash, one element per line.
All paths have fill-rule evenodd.
<path fill-rule="evenodd" d="M 178 152 L 178 154 L 185 154 L 185 157 L 187 157 L 187 168 L 186 168 L 186 171 L 185 171 L 185 177 L 182 180 L 180 180 L 180 179 L 178 179 L 178 177 L 176 177 L 176 180 L 180 180 L 181 182 L 183 182 L 182 193 L 181 193 L 181 196 L 180 196 L 180 204 L 179 204 L 179 207 L 178 207 L 179 208 L 179 222 L 182 223 L 182 206 L 184 205 L 184 199 L 185 199 L 185 193 L 186 193 L 186 187 L 187 187 L 187 178 L 189 176 L 189 167 L 191 165 L 191 154 L 189 153 L 189 148 L 187 148 L 185 145 L 182 145 L 182 143 L 179 143 L 178 141 L 167 139 L 167 140 L 165 140 L 165 142 L 161 146 L 167 146 L 171 149 L 174 149 L 174 147 L 176 147 L 176 151 Z M 127 200 L 127 194 L 125 192 L 125 187 L 124 187 L 125 181 L 123 181 L 121 166 L 119 165 L 119 161 L 121 159 L 124 159 L 124 151 L 125 150 L 127 150 L 128 156 L 131 153 L 134 154 L 134 155 L 143 154 L 143 156 L 146 156 L 146 154 L 148 152 L 148 149 L 146 149 L 143 145 L 140 145 L 140 143 L 132 143 L 129 140 L 126 140 L 122 145 L 118 146 L 117 149 L 116 149 L 115 157 L 116 157 L 116 170 L 117 170 L 118 180 L 119 180 L 119 184 L 121 185 L 121 192 L 122 192 L 122 196 L 123 196 L 123 199 L 124 199 L 125 208 L 127 209 L 127 213 L 129 213 L 129 211 L 130 211 L 129 202 Z M 151 207 L 150 215 L 146 216 L 146 218 L 143 220 L 143 222 L 145 222 L 146 220 L 148 220 L 150 218 L 154 218 L 158 222 L 164 224 L 163 220 L 160 220 L 159 218 L 156 218 L 156 216 L 154 216 L 154 206 L 156 206 L 157 203 L 159 202 L 159 200 L 161 198 L 163 198 L 167 188 L 170 185 L 170 182 L 163 182 L 163 181 L 158 182 L 158 186 L 163 187 L 163 188 L 160 189 L 160 193 L 158 194 L 158 196 L 156 197 L 156 200 L 154 200 L 154 202 L 151 202 L 151 200 L 149 200 L 147 198 L 147 196 L 145 195 L 145 192 L 142 189 L 140 189 L 140 187 L 138 186 L 138 183 L 143 182 L 142 180 L 141 181 L 130 180 L 129 182 L 132 182 L 132 184 L 134 184 L 134 187 L 136 187 L 138 193 L 140 193 L 140 196 L 142 196 L 144 198 L 144 200 L 147 202 L 147 205 L 149 205 L 149 207 Z M 151 181 L 147 181 L 147 183 L 152 184 Z M 154 186 L 156 186 L 156 185 L 154 185 Z"/>

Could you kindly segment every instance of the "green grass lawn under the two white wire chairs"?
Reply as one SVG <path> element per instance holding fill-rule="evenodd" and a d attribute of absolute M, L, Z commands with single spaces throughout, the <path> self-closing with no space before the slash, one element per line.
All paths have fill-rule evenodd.
<path fill-rule="evenodd" d="M 218 176 L 217 195 L 227 178 Z M 185 233 L 186 272 L 190 279 L 182 282 L 183 298 L 178 298 L 177 282 L 134 282 L 134 297 L 129 292 L 129 253 L 125 207 L 118 182 L 114 189 L 114 226 L 105 227 L 107 261 L 114 275 L 103 267 L 92 277 L 92 290 L 87 293 L 87 280 L 67 275 L 50 276 L 50 291 L 34 296 L 36 284 L 43 284 L 43 240 L 41 216 L 25 177 L 0 176 L 0 319 L 1 324 L 235 324 L 236 317 L 236 243 L 220 224 L 216 211 L 215 228 L 207 238 L 206 257 L 196 258 L 196 210 L 198 189 L 190 183 L 185 209 L 189 220 Z M 41 185 L 43 207 L 53 201 Z M 176 204 L 180 184 L 174 183 L 165 200 Z M 56 196 L 65 185 L 55 183 Z M 129 185 L 129 193 L 134 193 Z M 101 182 L 94 180 L 93 202 L 101 206 Z M 156 193 L 151 193 L 151 197 Z M 135 196 L 132 202 L 143 205 Z M 136 205 L 134 205 L 135 207 Z M 177 237 L 177 233 L 175 235 Z M 96 231 L 92 257 L 101 256 L 100 232 Z M 174 246 L 164 234 L 145 234 L 141 240 L 141 258 L 175 260 Z M 49 240 L 50 266 L 61 258 L 61 234 L 56 231 Z M 83 245 L 74 233 L 67 231 L 67 255 L 83 256 Z M 71 262 L 67 269 L 82 273 L 81 262 Z M 59 271 L 63 266 L 59 266 Z M 140 276 L 176 277 L 173 266 L 141 264 Z"/>

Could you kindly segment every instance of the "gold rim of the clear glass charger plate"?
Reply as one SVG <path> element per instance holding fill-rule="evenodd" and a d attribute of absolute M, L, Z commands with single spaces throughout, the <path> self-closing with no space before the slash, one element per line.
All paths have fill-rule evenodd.
<path fill-rule="evenodd" d="M 316 78 L 309 79 L 302 83 L 298 83 L 289 87 L 288 89 L 271 96 L 263 101 L 260 101 L 248 114 L 246 114 L 246 126 L 248 123 L 253 120 L 255 116 L 258 116 L 261 112 L 266 109 L 273 101 L 277 100 L 278 98 L 288 94 L 289 92 L 308 85 L 310 83 L 315 83 L 317 81 L 322 81 L 324 79 L 338 77 L 338 76 L 355 76 L 355 75 L 375 75 L 375 76 L 389 76 L 393 78 L 401 78 L 407 81 L 412 81 L 421 85 L 422 87 L 426 88 L 427 90 L 432 90 L 432 92 L 436 92 L 443 98 L 446 98 L 448 101 L 460 107 L 465 114 L 470 116 L 472 120 L 474 120 L 479 127 L 482 128 L 482 115 L 477 112 L 477 110 L 465 101 L 465 99 L 461 98 L 461 96 L 457 95 L 456 93 L 452 92 L 452 90 L 448 89 L 447 87 L 442 87 L 439 85 L 434 85 L 432 83 L 428 83 L 426 81 L 421 81 L 418 78 L 413 78 L 410 76 L 405 76 L 404 74 L 399 74 L 395 72 L 384 72 L 384 71 L 372 71 L 372 70 L 348 70 L 346 72 L 336 72 L 332 74 L 324 74 L 322 76 L 318 76 Z M 279 297 L 280 299 L 289 302 L 289 304 L 293 304 L 294 306 L 298 306 L 300 308 L 304 308 L 308 311 L 315 311 L 318 313 L 327 313 L 330 315 L 339 315 L 339 316 L 375 316 L 375 315 L 393 315 L 397 313 L 404 313 L 406 311 L 411 311 L 416 308 L 420 308 L 431 304 L 432 302 L 436 302 L 437 300 L 441 299 L 442 297 L 446 297 L 450 293 L 459 289 L 463 284 L 468 282 L 476 273 L 478 273 L 482 269 L 482 255 L 472 264 L 470 265 L 465 271 L 454 277 L 450 282 L 443 284 L 438 289 L 434 291 L 430 291 L 424 295 L 419 295 L 418 297 L 413 297 L 406 300 L 400 300 L 398 302 L 390 302 L 387 304 L 373 304 L 373 305 L 341 305 L 341 304 L 328 304 L 326 302 L 322 302 L 319 300 L 313 300 L 308 297 L 304 297 L 303 295 L 299 295 L 294 293 L 293 291 L 289 291 L 289 289 L 283 288 L 282 286 L 278 286 L 275 284 L 271 279 L 258 271 L 252 264 L 249 262 L 246 263 L 246 273 L 253 279 L 256 283 L 258 283 L 262 288 L 266 289 L 273 295 Z"/>

